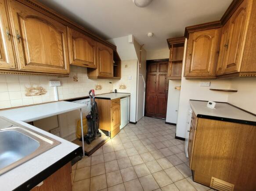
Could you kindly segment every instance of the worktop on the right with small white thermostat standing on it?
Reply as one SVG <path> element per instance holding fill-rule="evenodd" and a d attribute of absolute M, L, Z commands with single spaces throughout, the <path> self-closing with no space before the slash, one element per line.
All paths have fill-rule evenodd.
<path fill-rule="evenodd" d="M 207 103 L 207 101 L 190 100 L 190 105 L 195 115 L 209 115 L 214 117 L 256 122 L 256 116 L 242 111 L 241 109 L 238 109 L 230 104 L 216 103 L 215 109 L 210 109 L 206 107 Z"/>

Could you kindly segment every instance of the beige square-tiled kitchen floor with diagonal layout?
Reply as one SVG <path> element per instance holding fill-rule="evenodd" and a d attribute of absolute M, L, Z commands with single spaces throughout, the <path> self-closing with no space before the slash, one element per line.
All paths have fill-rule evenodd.
<path fill-rule="evenodd" d="M 72 167 L 73 191 L 208 191 L 192 181 L 175 126 L 142 118 Z M 212 190 L 213 191 L 213 190 Z"/>

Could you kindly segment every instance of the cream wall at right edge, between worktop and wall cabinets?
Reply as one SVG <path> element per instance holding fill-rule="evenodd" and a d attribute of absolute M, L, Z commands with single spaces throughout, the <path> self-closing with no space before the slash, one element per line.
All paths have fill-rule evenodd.
<path fill-rule="evenodd" d="M 234 78 L 231 88 L 238 92 L 229 93 L 228 102 L 256 114 L 256 78 Z"/>

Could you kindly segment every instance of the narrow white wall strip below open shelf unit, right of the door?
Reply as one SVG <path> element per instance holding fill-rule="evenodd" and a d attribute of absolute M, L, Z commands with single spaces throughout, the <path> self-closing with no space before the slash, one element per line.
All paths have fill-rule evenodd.
<path fill-rule="evenodd" d="M 169 123 L 177 123 L 177 110 L 179 109 L 180 90 L 175 89 L 175 87 L 180 86 L 180 83 L 181 80 L 169 80 L 166 111 L 166 122 Z"/>

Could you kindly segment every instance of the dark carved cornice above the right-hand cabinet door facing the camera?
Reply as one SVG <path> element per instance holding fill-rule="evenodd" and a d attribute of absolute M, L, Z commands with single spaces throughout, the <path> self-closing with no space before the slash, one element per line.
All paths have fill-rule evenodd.
<path fill-rule="evenodd" d="M 186 38 L 189 38 L 189 33 L 196 32 L 196 31 L 204 31 L 214 28 L 221 28 L 223 25 L 220 21 L 213 21 L 209 23 L 203 23 L 203 24 L 196 24 L 193 26 L 188 26 L 185 28 L 184 36 Z"/>

